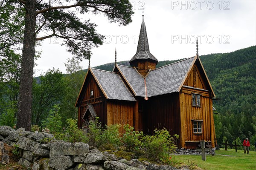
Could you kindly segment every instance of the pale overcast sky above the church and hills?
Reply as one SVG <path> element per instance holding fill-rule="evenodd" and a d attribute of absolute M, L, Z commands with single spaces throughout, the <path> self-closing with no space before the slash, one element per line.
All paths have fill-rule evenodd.
<path fill-rule="evenodd" d="M 137 50 L 142 23 L 147 29 L 149 49 L 158 61 L 177 60 L 195 56 L 195 37 L 198 36 L 199 55 L 233 52 L 256 45 L 255 0 L 131 0 L 134 15 L 128 26 L 109 23 L 103 14 L 87 14 L 98 26 L 98 33 L 105 35 L 104 44 L 92 49 L 91 67 L 115 61 L 130 60 Z M 66 73 L 64 62 L 72 54 L 61 46 L 61 40 L 47 39 L 37 50 L 42 50 L 36 61 L 35 75 L 47 69 L 60 69 Z M 82 61 L 83 69 L 88 61 Z"/>

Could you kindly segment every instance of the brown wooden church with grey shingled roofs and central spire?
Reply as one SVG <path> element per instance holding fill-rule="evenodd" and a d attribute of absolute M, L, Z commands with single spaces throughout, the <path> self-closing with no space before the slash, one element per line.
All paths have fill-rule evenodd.
<path fill-rule="evenodd" d="M 215 94 L 198 56 L 198 43 L 195 57 L 160 68 L 157 62 L 149 51 L 143 20 L 131 67 L 115 63 L 113 72 L 88 69 L 76 101 L 79 128 L 97 116 L 102 125 L 129 124 L 147 134 L 166 128 L 180 135 L 179 148 L 196 148 L 200 140 L 215 147 Z"/>

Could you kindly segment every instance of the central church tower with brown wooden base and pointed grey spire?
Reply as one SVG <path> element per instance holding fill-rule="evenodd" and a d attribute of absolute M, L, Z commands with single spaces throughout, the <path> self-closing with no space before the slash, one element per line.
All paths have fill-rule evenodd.
<path fill-rule="evenodd" d="M 148 36 L 143 15 L 137 52 L 133 58 L 131 58 L 129 63 L 132 67 L 135 67 L 141 75 L 145 76 L 150 69 L 156 68 L 157 62 L 158 61 L 154 55 L 149 52 Z"/>

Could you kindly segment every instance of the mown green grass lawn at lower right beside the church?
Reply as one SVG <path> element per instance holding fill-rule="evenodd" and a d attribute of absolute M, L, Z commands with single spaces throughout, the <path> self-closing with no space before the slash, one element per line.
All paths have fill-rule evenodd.
<path fill-rule="evenodd" d="M 244 154 L 243 150 L 223 148 L 215 151 L 215 156 L 207 155 L 206 161 L 202 161 L 201 155 L 173 155 L 172 158 L 186 164 L 195 163 L 203 170 L 256 170 L 256 152 Z"/>

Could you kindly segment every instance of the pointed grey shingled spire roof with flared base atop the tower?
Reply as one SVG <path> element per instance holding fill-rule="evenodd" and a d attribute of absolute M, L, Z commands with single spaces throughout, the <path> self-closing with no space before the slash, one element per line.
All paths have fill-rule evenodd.
<path fill-rule="evenodd" d="M 147 36 L 147 30 L 144 21 L 141 23 L 140 27 L 140 37 L 139 37 L 139 42 L 137 46 L 137 52 L 131 58 L 130 63 L 134 60 L 139 60 L 139 59 L 151 59 L 157 62 L 157 58 L 154 57 L 149 52 L 149 45 L 148 45 L 148 36 Z"/>

